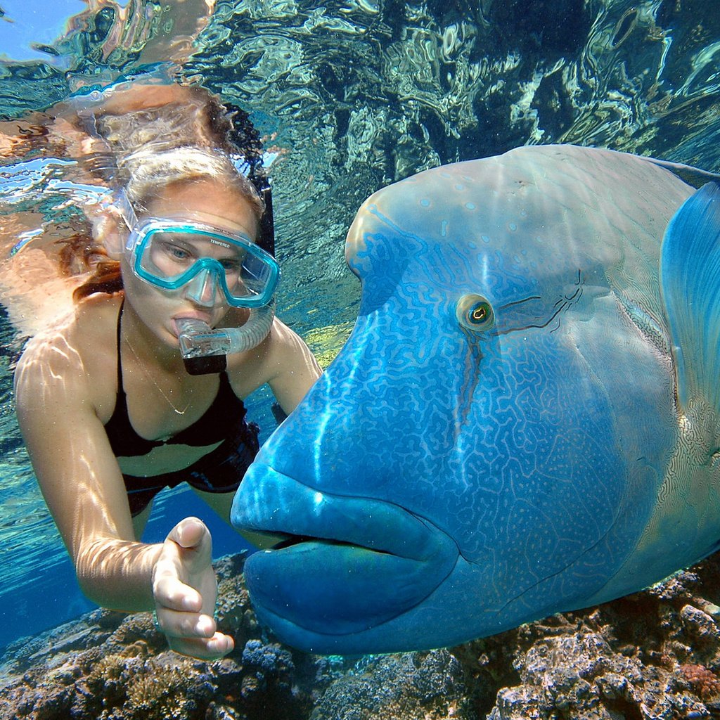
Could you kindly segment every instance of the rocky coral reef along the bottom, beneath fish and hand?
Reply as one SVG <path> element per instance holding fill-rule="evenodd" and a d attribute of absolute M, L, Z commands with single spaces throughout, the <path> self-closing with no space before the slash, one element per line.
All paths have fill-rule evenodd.
<path fill-rule="evenodd" d="M 451 649 L 319 657 L 258 626 L 244 557 L 217 564 L 216 662 L 167 649 L 149 613 L 94 611 L 9 647 L 0 718 L 703 720 L 720 717 L 720 554 L 643 593 Z"/>

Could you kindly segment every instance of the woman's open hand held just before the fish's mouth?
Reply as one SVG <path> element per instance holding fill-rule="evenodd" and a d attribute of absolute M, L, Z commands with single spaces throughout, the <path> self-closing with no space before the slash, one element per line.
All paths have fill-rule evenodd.
<path fill-rule="evenodd" d="M 181 520 L 168 534 L 153 570 L 156 617 L 171 649 L 217 660 L 235 643 L 217 632 L 217 596 L 210 531 L 197 518 Z"/>

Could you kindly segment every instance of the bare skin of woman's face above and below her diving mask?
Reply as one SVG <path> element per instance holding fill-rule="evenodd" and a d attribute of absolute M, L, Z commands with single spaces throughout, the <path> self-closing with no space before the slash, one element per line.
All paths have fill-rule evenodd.
<path fill-rule="evenodd" d="M 194 220 L 256 239 L 258 223 L 251 204 L 238 191 L 218 181 L 169 186 L 147 205 L 148 211 L 140 220 L 145 217 Z M 150 333 L 164 343 L 177 346 L 179 318 L 199 318 L 216 326 L 228 313 L 222 292 L 216 292 L 215 297 L 206 298 L 205 302 L 195 302 L 187 287 L 163 290 L 138 278 L 127 257 L 122 257 L 121 264 L 125 301 L 132 305 Z"/>

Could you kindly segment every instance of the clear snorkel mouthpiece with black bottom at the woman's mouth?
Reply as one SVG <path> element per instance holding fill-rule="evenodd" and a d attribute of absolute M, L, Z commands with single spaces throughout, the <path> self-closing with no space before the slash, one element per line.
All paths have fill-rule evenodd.
<path fill-rule="evenodd" d="M 222 372 L 228 354 L 250 350 L 267 337 L 274 317 L 275 304 L 270 302 L 252 308 L 241 328 L 211 328 L 197 318 L 179 318 L 178 340 L 186 371 L 191 375 Z"/>

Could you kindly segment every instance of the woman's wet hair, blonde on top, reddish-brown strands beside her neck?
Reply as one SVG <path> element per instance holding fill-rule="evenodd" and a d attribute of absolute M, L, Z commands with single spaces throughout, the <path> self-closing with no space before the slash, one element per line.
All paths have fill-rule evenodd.
<path fill-rule="evenodd" d="M 117 170 L 117 176 L 125 178 L 122 191 L 136 215 L 147 212 L 153 199 L 166 189 L 202 181 L 220 181 L 229 192 L 234 191 L 246 199 L 258 223 L 264 211 L 263 202 L 251 181 L 220 150 L 184 146 L 158 152 L 153 143 L 149 143 L 117 158 Z M 78 302 L 96 292 L 120 292 L 120 262 L 110 259 L 104 248 L 93 248 L 88 254 L 94 254 L 96 258 L 93 272 L 73 292 L 73 299 Z"/>

